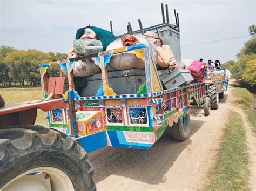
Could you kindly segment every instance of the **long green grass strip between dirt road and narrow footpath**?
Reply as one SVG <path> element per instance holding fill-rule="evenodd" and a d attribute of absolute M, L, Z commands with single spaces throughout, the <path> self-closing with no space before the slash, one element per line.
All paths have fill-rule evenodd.
<path fill-rule="evenodd" d="M 238 112 L 230 111 L 207 190 L 249 190 L 245 127 Z"/>

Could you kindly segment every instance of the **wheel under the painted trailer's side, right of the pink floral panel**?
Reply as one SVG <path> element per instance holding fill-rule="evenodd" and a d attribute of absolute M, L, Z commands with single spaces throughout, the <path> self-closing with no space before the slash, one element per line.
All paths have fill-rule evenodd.
<path fill-rule="evenodd" d="M 178 141 L 184 141 L 190 134 L 190 114 L 186 114 L 186 116 L 182 119 L 179 119 L 177 124 L 174 122 L 171 127 L 171 133 L 173 139 Z"/>

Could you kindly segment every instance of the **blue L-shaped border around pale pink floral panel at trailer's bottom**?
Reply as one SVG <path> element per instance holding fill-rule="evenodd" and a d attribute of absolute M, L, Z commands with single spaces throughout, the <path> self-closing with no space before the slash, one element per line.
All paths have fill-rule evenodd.
<path fill-rule="evenodd" d="M 137 142 L 127 142 L 123 131 L 107 131 L 112 147 L 124 147 L 134 149 L 150 149 L 153 144 L 142 144 Z"/>

